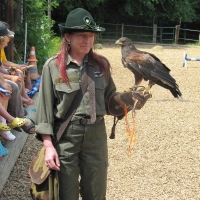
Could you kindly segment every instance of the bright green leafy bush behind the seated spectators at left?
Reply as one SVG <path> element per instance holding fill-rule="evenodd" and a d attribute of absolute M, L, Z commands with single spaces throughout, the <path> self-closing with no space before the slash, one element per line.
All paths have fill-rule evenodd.
<path fill-rule="evenodd" d="M 15 0 L 19 3 L 18 0 Z M 51 27 L 54 21 L 47 16 L 48 9 L 57 6 L 56 0 L 52 0 L 51 5 L 48 5 L 46 0 L 24 0 L 23 2 L 23 20 L 18 22 L 19 31 L 16 32 L 15 46 L 18 52 L 18 57 L 24 57 L 25 34 L 27 24 L 27 48 L 26 61 L 29 57 L 30 48 L 35 47 L 36 58 L 38 60 L 39 71 L 49 57 L 49 49 L 52 49 L 52 40 L 55 37 Z"/>

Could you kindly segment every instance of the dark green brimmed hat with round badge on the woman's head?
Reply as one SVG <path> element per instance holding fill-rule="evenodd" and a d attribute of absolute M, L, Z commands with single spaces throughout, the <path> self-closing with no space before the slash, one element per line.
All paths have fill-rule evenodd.
<path fill-rule="evenodd" d="M 99 27 L 94 22 L 92 15 L 83 8 L 72 10 L 66 19 L 65 24 L 58 24 L 61 34 L 71 32 L 103 32 L 105 28 Z"/>

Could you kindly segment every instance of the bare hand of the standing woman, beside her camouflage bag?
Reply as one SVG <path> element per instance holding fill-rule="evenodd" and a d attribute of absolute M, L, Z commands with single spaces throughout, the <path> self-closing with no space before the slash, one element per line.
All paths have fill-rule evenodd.
<path fill-rule="evenodd" d="M 45 147 L 45 163 L 50 169 L 60 171 L 60 161 L 53 145 Z"/>

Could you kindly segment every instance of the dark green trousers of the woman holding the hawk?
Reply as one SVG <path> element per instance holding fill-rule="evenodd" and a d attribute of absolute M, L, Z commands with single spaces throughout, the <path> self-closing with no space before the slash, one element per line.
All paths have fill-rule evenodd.
<path fill-rule="evenodd" d="M 104 120 L 69 124 L 56 150 L 60 159 L 60 200 L 105 200 L 108 167 Z"/>

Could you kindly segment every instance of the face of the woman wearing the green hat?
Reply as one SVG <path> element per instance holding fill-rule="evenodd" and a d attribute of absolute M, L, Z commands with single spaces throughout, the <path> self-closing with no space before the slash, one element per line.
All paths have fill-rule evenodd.
<path fill-rule="evenodd" d="M 65 34 L 65 39 L 70 42 L 70 53 L 84 56 L 94 44 L 95 33 L 92 32 L 74 32 Z"/>

